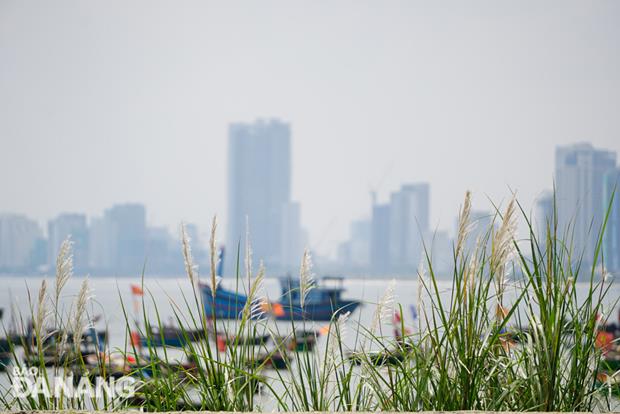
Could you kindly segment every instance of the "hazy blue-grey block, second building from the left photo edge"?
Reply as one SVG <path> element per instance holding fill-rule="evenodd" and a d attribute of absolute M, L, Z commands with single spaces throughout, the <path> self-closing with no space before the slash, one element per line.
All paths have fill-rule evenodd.
<path fill-rule="evenodd" d="M 47 224 L 47 262 L 51 269 L 56 266 L 56 257 L 62 242 L 69 236 L 73 241 L 73 266 L 76 272 L 85 272 L 89 267 L 88 227 L 84 214 L 61 214 Z"/>

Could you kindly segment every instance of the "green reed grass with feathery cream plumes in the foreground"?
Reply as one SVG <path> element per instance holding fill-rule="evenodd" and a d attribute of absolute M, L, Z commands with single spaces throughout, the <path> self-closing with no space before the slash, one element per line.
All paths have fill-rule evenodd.
<path fill-rule="evenodd" d="M 0 393 L 1 409 L 101 409 L 136 407 L 145 411 L 605 411 L 620 392 L 617 385 L 601 380 L 604 367 L 597 333 L 608 309 L 603 303 L 611 280 L 603 271 L 601 252 L 608 214 L 599 231 L 593 263 L 585 268 L 572 250 L 570 228 L 561 229 L 557 212 L 549 218 L 544 235 L 538 236 L 528 214 L 512 198 L 505 209 L 497 208 L 492 225 L 478 232 L 473 250 L 470 221 L 471 193 L 467 192 L 459 213 L 458 235 L 453 247 L 451 288 L 442 291 L 430 249 L 417 274 L 417 320 L 404 317 L 392 321 L 395 312 L 394 282 L 375 305 L 369 326 L 362 326 L 349 314 L 329 322 L 315 352 L 288 349 L 285 339 L 296 341 L 298 330 L 306 331 L 309 321 L 290 321 L 280 331 L 265 313 L 262 284 L 266 270 L 254 271 L 249 237 L 236 259 L 237 289 L 248 301 L 233 323 L 218 321 L 206 309 L 194 265 L 191 241 L 181 228 L 183 260 L 191 294 L 181 303 L 170 300 L 182 345 L 172 350 L 158 346 L 164 328 L 158 303 L 147 286 L 140 299 L 141 319 L 132 319 L 121 300 L 127 337 L 137 331 L 145 338 L 140 346 L 127 340 L 119 352 L 136 361 L 126 373 L 139 380 L 137 396 L 117 400 L 39 397 L 20 399 L 10 390 Z M 611 206 L 610 206 L 611 207 Z M 517 221 L 527 235 L 517 239 Z M 215 292 L 220 281 L 215 269 L 217 220 L 213 219 L 210 239 L 208 284 Z M 30 305 L 33 334 L 30 344 L 13 344 L 16 367 L 25 367 L 19 347 L 36 350 L 30 364 L 46 378 L 43 360 L 50 336 L 67 341 L 76 333 L 72 349 L 55 355 L 54 373 L 69 376 L 86 369 L 79 346 L 84 327 L 89 326 L 90 289 L 84 282 L 71 309 L 59 305 L 62 289 L 72 274 L 71 244 L 63 243 L 58 259 L 55 287 L 50 293 L 43 281 Z M 243 271 L 240 271 L 243 269 Z M 242 274 L 243 273 L 243 274 Z M 306 300 L 314 288 L 308 251 L 300 263 L 300 296 Z M 576 282 L 587 282 L 585 297 L 578 297 Z M 120 297 L 120 294 L 119 294 Z M 148 305 L 148 306 L 147 306 Z M 152 309 L 149 313 L 147 309 Z M 52 317 L 53 316 L 53 317 Z M 25 326 L 22 323 L 23 326 Z M 413 331 L 407 328 L 415 326 Z M 398 335 L 392 335 L 392 331 Z M 196 334 L 196 333 L 201 334 Z M 217 333 L 230 339 L 224 352 L 218 349 Z M 350 347 L 345 341 L 354 334 Z M 245 338 L 269 334 L 274 346 L 254 346 Z M 25 337 L 25 336 L 24 336 Z M 61 346 L 59 348 L 63 348 Z M 105 349 L 98 357 L 101 375 L 110 375 Z M 176 353 L 177 356 L 172 354 Z M 191 364 L 179 364 L 182 360 Z M 282 356 L 286 370 L 268 369 L 267 361 Z M 262 358 L 262 359 L 261 359 Z M 354 363 L 354 361 L 356 361 Z M 613 377 L 613 376 L 612 376 Z"/>

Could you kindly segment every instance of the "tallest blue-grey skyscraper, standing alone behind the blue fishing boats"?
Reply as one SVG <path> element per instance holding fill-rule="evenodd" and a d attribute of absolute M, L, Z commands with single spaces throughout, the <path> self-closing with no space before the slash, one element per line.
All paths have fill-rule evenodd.
<path fill-rule="evenodd" d="M 284 228 L 291 212 L 291 129 L 279 120 L 230 125 L 228 138 L 228 266 L 235 272 L 237 246 L 245 250 L 246 219 L 256 262 L 268 270 L 282 270 L 283 236 L 297 229 Z M 286 215 L 292 218 L 291 214 Z M 292 223 L 295 222 L 295 223 Z M 233 259 L 233 260 L 231 260 Z"/>

